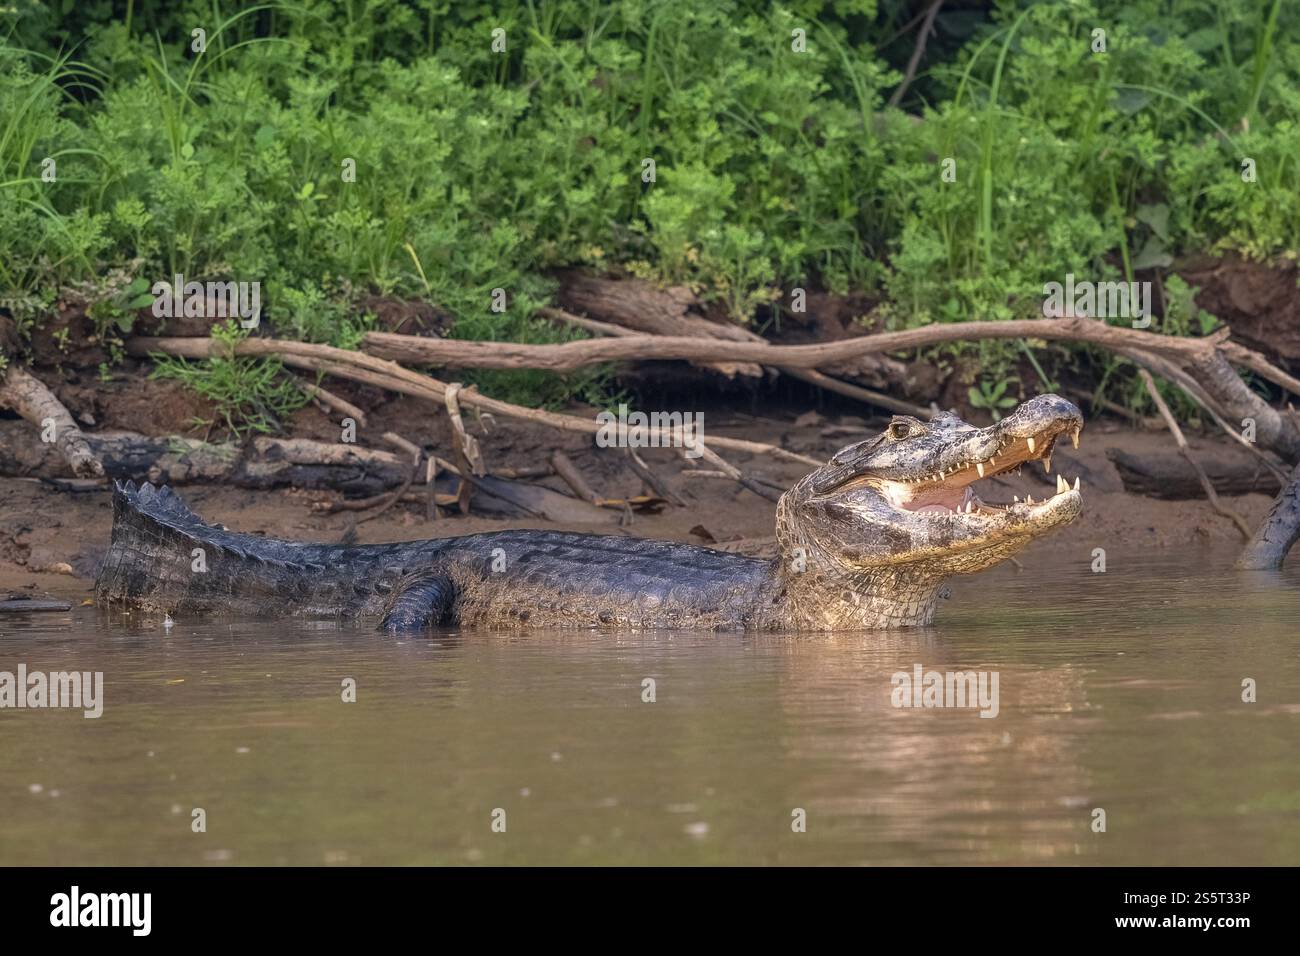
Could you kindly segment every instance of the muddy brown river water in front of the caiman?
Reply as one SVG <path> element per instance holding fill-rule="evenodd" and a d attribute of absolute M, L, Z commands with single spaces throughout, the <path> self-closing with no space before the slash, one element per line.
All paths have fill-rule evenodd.
<path fill-rule="evenodd" d="M 0 710 L 0 864 L 1300 862 L 1300 568 L 1089 562 L 894 633 L 6 615 L 0 671 L 104 691 Z M 996 672 L 997 715 L 896 708 L 918 665 Z"/>

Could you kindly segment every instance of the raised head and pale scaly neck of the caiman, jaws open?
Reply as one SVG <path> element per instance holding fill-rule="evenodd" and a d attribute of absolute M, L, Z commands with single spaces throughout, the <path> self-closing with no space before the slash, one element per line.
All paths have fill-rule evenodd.
<path fill-rule="evenodd" d="M 1057 441 L 1078 446 L 1082 428 L 1074 405 L 1039 395 L 988 428 L 950 412 L 896 416 L 842 449 L 777 505 L 793 617 L 811 628 L 928 623 L 945 578 L 992 567 L 1078 516 L 1078 479 L 1058 475 L 1054 496 L 1011 502 L 989 480 L 1035 459 L 1050 468 Z"/>

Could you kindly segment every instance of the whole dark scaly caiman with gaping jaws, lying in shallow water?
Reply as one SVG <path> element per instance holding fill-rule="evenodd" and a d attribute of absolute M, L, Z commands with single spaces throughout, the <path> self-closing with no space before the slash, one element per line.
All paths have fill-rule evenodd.
<path fill-rule="evenodd" d="M 113 493 L 96 604 L 187 615 L 374 619 L 390 631 L 711 628 L 829 631 L 928 624 L 944 581 L 1011 557 L 1080 510 L 985 502 L 978 481 L 1041 460 L 1083 416 L 1039 395 L 987 428 L 896 416 L 802 477 L 776 509 L 779 557 L 556 531 L 317 545 L 205 524 L 168 488 Z"/>

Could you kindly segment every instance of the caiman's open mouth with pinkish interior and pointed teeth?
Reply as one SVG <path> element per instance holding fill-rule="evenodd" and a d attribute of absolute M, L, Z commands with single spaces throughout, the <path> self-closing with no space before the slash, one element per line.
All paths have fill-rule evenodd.
<path fill-rule="evenodd" d="M 878 479 L 875 484 L 902 511 L 922 515 L 1014 514 L 1028 518 L 1039 511 L 1053 510 L 1061 498 L 1078 497 L 1079 479 L 1075 477 L 1071 484 L 1057 475 L 1054 494 L 1037 502 L 1032 496 L 1026 496 L 1023 502 L 1019 496 L 1014 496 L 1013 501 L 1001 505 L 985 502 L 976 493 L 975 485 L 997 475 L 1018 472 L 1026 462 L 1040 462 L 1044 471 L 1050 472 L 1052 451 L 1057 441 L 1069 434 L 1074 446 L 1079 447 L 1080 431 L 1078 421 L 1053 421 L 1034 434 L 1005 436 L 987 458 L 956 462 L 952 467 L 915 479 Z"/>

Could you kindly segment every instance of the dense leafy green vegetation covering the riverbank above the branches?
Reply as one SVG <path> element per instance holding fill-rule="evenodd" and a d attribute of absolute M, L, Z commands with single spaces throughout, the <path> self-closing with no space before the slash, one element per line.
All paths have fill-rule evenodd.
<path fill-rule="evenodd" d="M 276 333 L 307 341 L 355 345 L 368 291 L 436 302 L 455 336 L 562 341 L 576 333 L 534 317 L 562 265 L 690 284 L 740 323 L 779 321 L 794 286 L 866 291 L 902 328 L 1037 315 L 1070 272 L 1296 255 L 1296 8 L 965 5 L 889 108 L 914 7 L 17 0 L 0 12 L 0 300 L 95 282 L 129 324 L 133 282 L 181 272 L 261 281 Z M 1162 330 L 1202 332 L 1175 293 Z M 936 356 L 956 352 L 1002 407 L 1027 352 Z M 551 403 L 606 378 L 477 381 Z"/>

